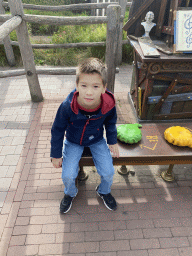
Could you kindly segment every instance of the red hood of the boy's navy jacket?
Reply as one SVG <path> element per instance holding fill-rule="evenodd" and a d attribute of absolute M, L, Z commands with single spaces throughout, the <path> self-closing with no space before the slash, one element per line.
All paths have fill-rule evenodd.
<path fill-rule="evenodd" d="M 73 94 L 72 101 L 71 101 L 71 109 L 76 115 L 79 112 L 79 108 L 78 108 L 78 104 L 77 104 L 78 94 L 79 93 L 77 91 L 75 91 Z M 115 107 L 114 95 L 111 92 L 106 90 L 104 94 L 101 94 L 101 113 L 103 115 L 105 115 L 107 112 L 109 112 L 114 107 Z"/>

